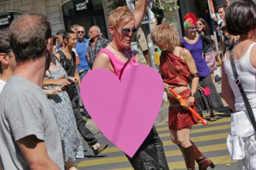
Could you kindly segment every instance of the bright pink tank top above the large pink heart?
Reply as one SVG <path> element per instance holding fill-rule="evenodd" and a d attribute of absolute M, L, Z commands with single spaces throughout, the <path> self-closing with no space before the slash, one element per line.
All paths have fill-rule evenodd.
<path fill-rule="evenodd" d="M 122 60 L 119 60 L 117 57 L 115 57 L 115 55 L 110 52 L 110 50 L 106 49 L 106 48 L 102 48 L 98 54 L 100 52 L 104 52 L 106 54 L 108 54 L 109 58 L 110 58 L 110 62 L 112 64 L 112 66 L 115 69 L 115 75 L 117 75 L 117 77 L 119 77 L 119 80 L 121 79 L 121 77 L 123 76 L 123 74 L 130 69 L 131 67 L 135 66 L 135 65 L 139 65 L 139 62 L 137 62 L 137 60 L 135 59 L 134 56 L 132 56 L 132 51 L 131 48 L 129 48 L 127 50 L 127 52 L 130 54 L 131 56 L 131 60 L 127 61 L 127 62 L 123 62 Z"/>

